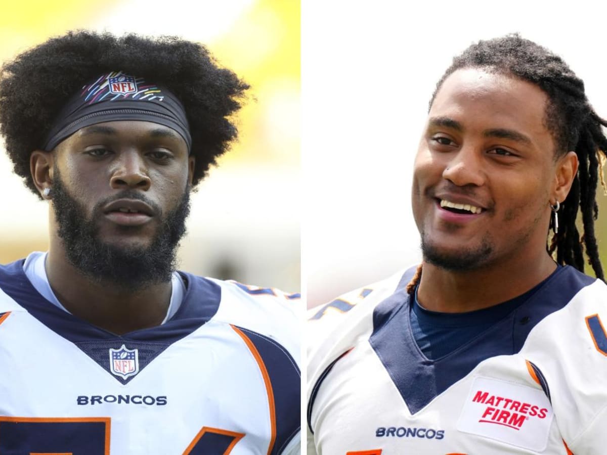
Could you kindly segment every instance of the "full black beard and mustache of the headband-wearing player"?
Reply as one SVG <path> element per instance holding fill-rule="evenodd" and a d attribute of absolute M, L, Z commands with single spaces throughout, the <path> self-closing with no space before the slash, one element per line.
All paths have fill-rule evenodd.
<path fill-rule="evenodd" d="M 57 233 L 72 266 L 97 283 L 109 283 L 129 291 L 171 281 L 171 274 L 177 268 L 177 247 L 186 232 L 189 188 L 185 189 L 178 206 L 164 217 L 160 207 L 141 192 L 124 190 L 97 203 L 89 220 L 84 207 L 67 193 L 56 167 L 54 172 L 52 200 Z M 97 221 L 103 217 L 103 207 L 122 198 L 144 201 L 161 218 L 158 232 L 148 247 L 115 246 L 98 238 Z M 123 229 L 127 232 L 133 228 L 123 226 Z"/>

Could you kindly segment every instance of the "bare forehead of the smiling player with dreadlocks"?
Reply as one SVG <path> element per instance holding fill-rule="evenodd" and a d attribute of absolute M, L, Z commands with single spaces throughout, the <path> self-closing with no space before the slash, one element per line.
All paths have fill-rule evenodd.
<path fill-rule="evenodd" d="M 551 138 L 545 122 L 547 103 L 546 93 L 532 83 L 466 68 L 444 80 L 429 116 L 447 116 L 469 127 L 508 128 Z"/>

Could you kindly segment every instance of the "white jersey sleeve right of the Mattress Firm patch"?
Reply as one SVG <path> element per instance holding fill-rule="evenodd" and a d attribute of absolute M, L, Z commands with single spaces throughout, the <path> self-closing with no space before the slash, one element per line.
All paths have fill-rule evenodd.
<path fill-rule="evenodd" d="M 521 350 L 543 375 L 558 428 L 574 454 L 607 447 L 607 286 L 585 286 L 529 334 Z"/>

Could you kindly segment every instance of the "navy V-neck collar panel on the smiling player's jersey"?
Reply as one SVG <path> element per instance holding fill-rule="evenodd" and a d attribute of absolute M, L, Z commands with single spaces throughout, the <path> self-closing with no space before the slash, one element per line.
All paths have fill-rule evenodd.
<path fill-rule="evenodd" d="M 376 308 L 369 341 L 410 413 L 415 414 L 483 360 L 516 354 L 535 325 L 594 281 L 572 267 L 560 268 L 507 317 L 436 360 L 427 359 L 413 339 L 409 322 L 412 298 L 405 291 L 406 282 L 401 282 L 395 294 Z"/>

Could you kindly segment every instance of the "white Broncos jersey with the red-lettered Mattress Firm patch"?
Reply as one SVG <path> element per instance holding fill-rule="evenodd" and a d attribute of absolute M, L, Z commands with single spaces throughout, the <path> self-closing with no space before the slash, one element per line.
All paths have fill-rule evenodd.
<path fill-rule="evenodd" d="M 410 329 L 415 269 L 311 310 L 308 455 L 607 453 L 607 286 L 558 269 L 436 360 Z"/>

